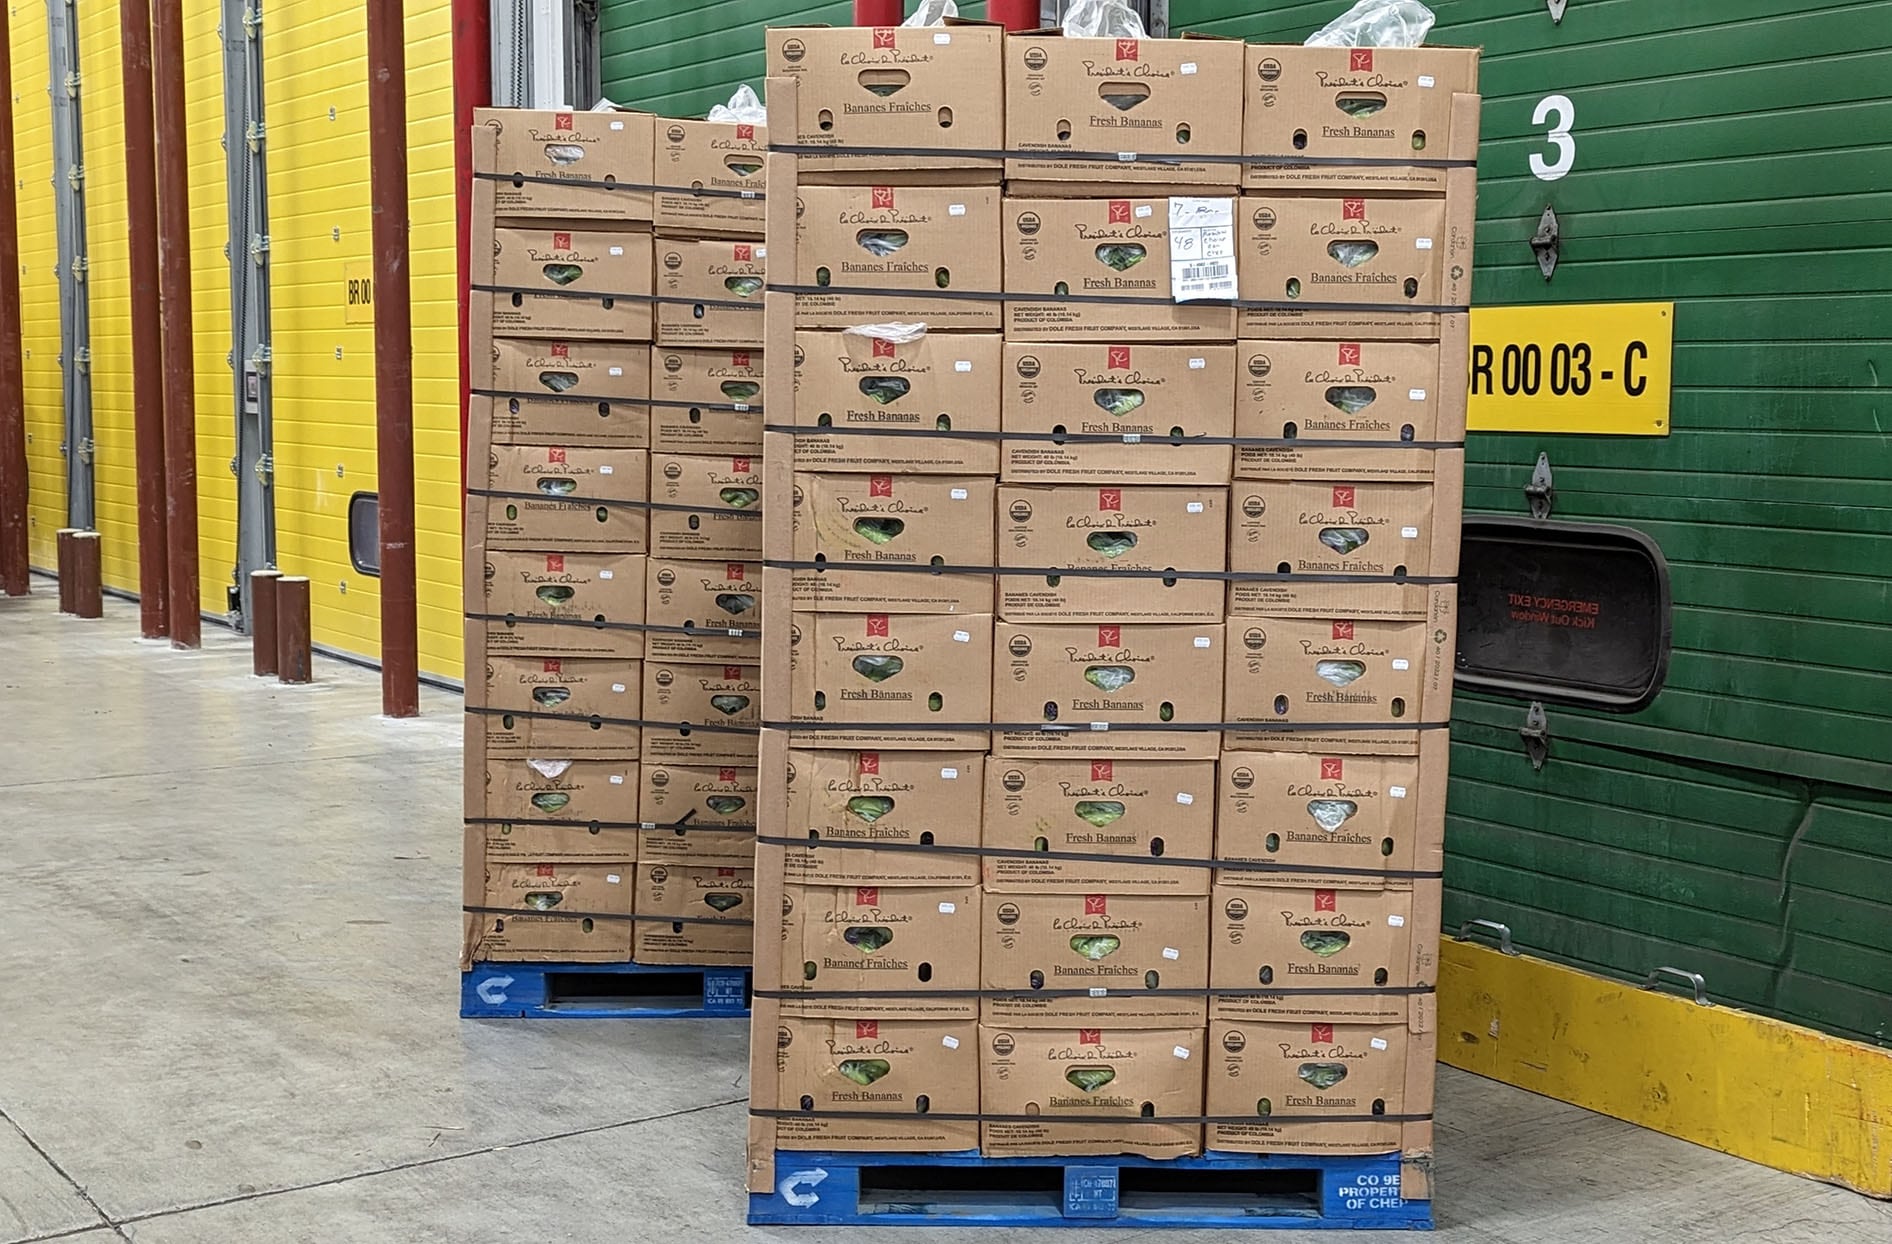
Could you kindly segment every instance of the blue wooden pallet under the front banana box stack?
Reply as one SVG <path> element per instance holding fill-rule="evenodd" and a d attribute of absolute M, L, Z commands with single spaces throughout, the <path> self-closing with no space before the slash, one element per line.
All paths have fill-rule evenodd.
<path fill-rule="evenodd" d="M 1226 1227 L 1430 1231 L 1432 1202 L 1400 1199 L 1398 1153 L 980 1157 L 776 1153 L 753 1225 Z"/>

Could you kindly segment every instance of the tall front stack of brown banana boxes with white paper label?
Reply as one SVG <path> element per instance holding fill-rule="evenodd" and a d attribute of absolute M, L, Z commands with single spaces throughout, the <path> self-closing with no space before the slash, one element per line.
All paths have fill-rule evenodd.
<path fill-rule="evenodd" d="M 1427 1157 L 1476 53 L 768 55 L 757 1187 Z"/>

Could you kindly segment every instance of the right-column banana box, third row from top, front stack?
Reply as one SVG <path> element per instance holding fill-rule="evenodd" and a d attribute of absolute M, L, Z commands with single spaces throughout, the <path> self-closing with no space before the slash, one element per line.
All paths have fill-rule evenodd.
<path fill-rule="evenodd" d="M 1345 454 L 1360 482 L 1430 482 L 1436 454 L 1417 446 L 1463 446 L 1470 357 L 1470 316 L 1438 320 L 1436 342 L 1237 342 L 1235 435 L 1287 444 L 1235 446 L 1235 478 L 1328 478 Z"/>

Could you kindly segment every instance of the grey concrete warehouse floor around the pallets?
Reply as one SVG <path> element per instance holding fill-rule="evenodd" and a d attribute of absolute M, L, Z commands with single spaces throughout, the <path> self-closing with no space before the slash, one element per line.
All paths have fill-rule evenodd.
<path fill-rule="evenodd" d="M 227 631 L 170 652 L 36 592 L 0 599 L 0 1244 L 902 1235 L 744 1225 L 740 1023 L 458 1019 L 454 696 L 388 722 L 373 673 L 280 688 Z M 1892 1240 L 1892 1206 L 1461 1072 L 1438 1117 L 1449 1244 Z M 1112 1238 L 1158 1235 L 1226 1238 Z"/>

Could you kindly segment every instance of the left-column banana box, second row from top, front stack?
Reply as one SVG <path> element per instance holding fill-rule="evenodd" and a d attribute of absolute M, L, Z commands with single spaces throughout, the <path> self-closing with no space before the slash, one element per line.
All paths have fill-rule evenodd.
<path fill-rule="evenodd" d="M 795 233 L 797 327 L 999 327 L 997 185 L 802 185 Z"/>

